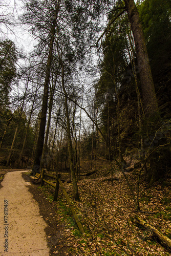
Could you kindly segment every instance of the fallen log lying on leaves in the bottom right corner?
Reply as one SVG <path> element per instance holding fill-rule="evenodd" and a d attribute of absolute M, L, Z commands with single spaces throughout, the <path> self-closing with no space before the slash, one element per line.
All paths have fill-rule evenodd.
<path fill-rule="evenodd" d="M 152 227 L 148 223 L 146 223 L 144 220 L 136 216 L 136 223 L 143 226 L 145 229 L 148 229 L 154 233 L 156 237 L 158 237 L 165 245 L 171 248 L 171 240 L 164 236 L 161 232 L 159 232 L 156 228 Z"/>

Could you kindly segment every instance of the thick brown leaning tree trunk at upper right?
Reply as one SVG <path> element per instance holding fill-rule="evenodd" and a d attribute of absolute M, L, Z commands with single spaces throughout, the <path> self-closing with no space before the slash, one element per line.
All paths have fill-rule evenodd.
<path fill-rule="evenodd" d="M 141 80 L 144 112 L 147 117 L 159 118 L 159 108 L 155 93 L 155 87 L 149 65 L 148 54 L 145 45 L 145 39 L 139 18 L 139 13 L 134 0 L 124 0 L 126 11 L 130 19 L 133 31 L 135 48 L 138 60 L 138 69 Z"/>

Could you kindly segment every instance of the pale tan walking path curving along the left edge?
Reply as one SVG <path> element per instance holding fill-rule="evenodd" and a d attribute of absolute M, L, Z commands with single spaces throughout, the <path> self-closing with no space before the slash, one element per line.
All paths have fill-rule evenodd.
<path fill-rule="evenodd" d="M 44 231 L 47 224 L 40 217 L 38 204 L 29 192 L 30 182 L 22 178 L 22 172 L 7 173 L 1 183 L 0 254 L 49 256 Z"/>

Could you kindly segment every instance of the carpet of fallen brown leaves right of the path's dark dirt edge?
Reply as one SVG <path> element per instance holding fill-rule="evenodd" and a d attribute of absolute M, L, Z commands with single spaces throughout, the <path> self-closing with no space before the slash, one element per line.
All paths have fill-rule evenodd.
<path fill-rule="evenodd" d="M 103 167 L 103 174 L 108 174 L 109 166 Z M 56 203 L 58 218 L 68 224 L 65 236 L 68 236 L 72 255 L 110 256 L 110 255 L 171 255 L 168 248 L 150 231 L 138 227 L 134 222 L 135 215 L 140 216 L 149 224 L 171 238 L 171 207 L 170 180 L 167 184 L 155 185 L 146 189 L 146 184 L 140 185 L 140 208 L 135 211 L 134 201 L 122 175 L 114 169 L 114 178 L 119 180 L 103 181 L 98 179 L 83 179 L 78 182 L 80 202 L 74 202 L 77 215 L 85 230 L 80 234 L 69 206 L 59 190 Z M 137 170 L 127 174 L 136 193 Z M 100 175 L 101 176 L 101 173 Z M 72 198 L 72 184 L 64 183 L 68 195 Z M 48 186 L 49 191 L 52 188 Z M 71 255 L 70 254 L 70 255 Z M 69 255 L 69 254 L 68 254 Z"/>

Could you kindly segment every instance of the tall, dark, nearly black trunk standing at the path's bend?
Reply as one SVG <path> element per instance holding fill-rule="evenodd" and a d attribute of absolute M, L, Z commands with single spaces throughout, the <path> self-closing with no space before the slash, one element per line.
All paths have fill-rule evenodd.
<path fill-rule="evenodd" d="M 40 172 L 40 161 L 41 161 L 42 150 L 44 146 L 46 117 L 47 117 L 47 109 L 48 109 L 49 81 L 50 81 L 50 74 L 51 74 L 51 63 L 52 63 L 55 29 L 56 29 L 56 16 L 53 20 L 52 29 L 51 29 L 51 39 L 50 39 L 48 61 L 46 65 L 44 95 L 43 95 L 42 109 L 41 109 L 40 129 L 39 129 L 36 153 L 35 153 L 35 158 L 34 158 L 34 163 L 32 168 L 33 175 Z"/>

